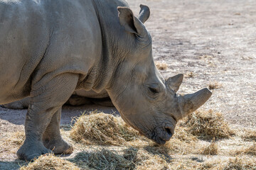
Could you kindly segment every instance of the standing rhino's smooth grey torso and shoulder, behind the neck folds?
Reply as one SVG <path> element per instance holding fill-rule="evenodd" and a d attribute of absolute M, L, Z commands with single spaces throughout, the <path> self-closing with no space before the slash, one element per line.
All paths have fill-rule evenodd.
<path fill-rule="evenodd" d="M 91 1 L 0 0 L 0 103 L 28 96 L 33 81 L 86 77 L 100 53 Z"/>

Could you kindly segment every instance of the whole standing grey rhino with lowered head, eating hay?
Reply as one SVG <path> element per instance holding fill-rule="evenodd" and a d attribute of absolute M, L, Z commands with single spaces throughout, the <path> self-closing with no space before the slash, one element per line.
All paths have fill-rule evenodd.
<path fill-rule="evenodd" d="M 124 6 L 124 7 L 117 7 Z M 182 74 L 167 81 L 152 57 L 139 17 L 123 0 L 0 0 L 0 104 L 30 96 L 26 140 L 17 155 L 71 154 L 60 136 L 61 106 L 75 90 L 106 90 L 124 121 L 159 144 L 176 121 L 210 97 L 177 96 Z"/>

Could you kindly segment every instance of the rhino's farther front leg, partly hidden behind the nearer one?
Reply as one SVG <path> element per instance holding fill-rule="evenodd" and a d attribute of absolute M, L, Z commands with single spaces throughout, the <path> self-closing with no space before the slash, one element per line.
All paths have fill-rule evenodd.
<path fill-rule="evenodd" d="M 43 145 L 52 150 L 54 154 L 72 154 L 73 147 L 60 135 L 61 108 L 54 113 L 46 131 L 43 133 Z"/>

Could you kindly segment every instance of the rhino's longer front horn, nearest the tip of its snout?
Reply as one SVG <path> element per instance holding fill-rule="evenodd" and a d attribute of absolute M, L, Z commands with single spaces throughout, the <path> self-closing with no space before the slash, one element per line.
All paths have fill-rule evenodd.
<path fill-rule="evenodd" d="M 194 94 L 186 94 L 185 96 L 180 96 L 178 103 L 181 109 L 182 118 L 184 118 L 189 113 L 196 111 L 203 103 L 206 103 L 212 92 L 208 89 L 201 89 Z"/>

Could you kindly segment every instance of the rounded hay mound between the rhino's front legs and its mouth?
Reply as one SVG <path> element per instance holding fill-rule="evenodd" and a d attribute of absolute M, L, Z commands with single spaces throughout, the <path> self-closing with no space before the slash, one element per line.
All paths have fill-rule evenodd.
<path fill-rule="evenodd" d="M 99 145 L 125 145 L 138 137 L 138 132 L 113 115 L 91 113 L 76 118 L 70 136 L 76 142 Z"/>

